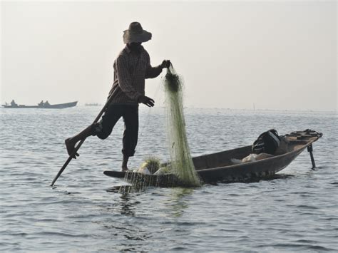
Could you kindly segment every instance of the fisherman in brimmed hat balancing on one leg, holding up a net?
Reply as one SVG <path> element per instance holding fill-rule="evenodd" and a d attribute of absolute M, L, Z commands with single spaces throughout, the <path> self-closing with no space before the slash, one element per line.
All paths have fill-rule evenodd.
<path fill-rule="evenodd" d="M 113 64 L 114 81 L 109 92 L 109 97 L 112 96 L 113 100 L 98 123 L 89 125 L 78 135 L 65 140 L 68 155 L 73 153 L 78 141 L 90 135 L 96 135 L 100 139 L 108 138 L 122 117 L 125 125 L 122 170 L 128 170 L 128 159 L 134 155 L 138 143 L 138 104 L 153 107 L 155 103 L 152 98 L 145 96 L 145 79 L 159 76 L 163 68 L 169 68 L 171 64 L 169 60 L 164 60 L 159 66 L 150 65 L 149 54 L 141 46 L 141 43 L 150 39 L 151 33 L 143 30 L 138 22 L 131 23 L 129 29 L 123 31 L 126 47 Z M 74 158 L 76 156 L 77 153 Z"/>

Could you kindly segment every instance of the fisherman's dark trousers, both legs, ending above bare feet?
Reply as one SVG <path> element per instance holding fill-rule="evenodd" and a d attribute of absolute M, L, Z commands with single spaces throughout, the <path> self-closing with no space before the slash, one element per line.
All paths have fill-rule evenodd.
<path fill-rule="evenodd" d="M 121 117 L 124 121 L 122 153 L 133 156 L 138 144 L 138 105 L 109 105 L 102 119 L 93 126 L 92 134 L 100 139 L 108 138 Z"/>

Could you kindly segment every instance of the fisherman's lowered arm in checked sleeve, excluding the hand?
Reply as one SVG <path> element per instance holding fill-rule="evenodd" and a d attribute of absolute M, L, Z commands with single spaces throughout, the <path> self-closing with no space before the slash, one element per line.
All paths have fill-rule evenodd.
<path fill-rule="evenodd" d="M 118 86 L 120 86 L 121 90 L 128 95 L 129 98 L 138 101 L 141 93 L 135 90 L 132 86 L 132 78 L 127 68 L 126 58 L 119 56 L 116 59 L 116 72 L 118 76 Z"/>

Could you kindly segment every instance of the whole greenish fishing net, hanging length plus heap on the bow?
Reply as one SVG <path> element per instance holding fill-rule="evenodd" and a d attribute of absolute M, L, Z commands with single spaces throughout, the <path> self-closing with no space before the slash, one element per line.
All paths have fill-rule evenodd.
<path fill-rule="evenodd" d="M 167 133 L 170 162 L 160 165 L 160 160 L 150 157 L 138 170 L 127 172 L 125 180 L 131 185 L 121 187 L 118 192 L 140 192 L 147 186 L 200 186 L 193 159 L 190 156 L 185 132 L 183 113 L 183 80 L 171 65 L 163 78 L 167 114 Z"/>

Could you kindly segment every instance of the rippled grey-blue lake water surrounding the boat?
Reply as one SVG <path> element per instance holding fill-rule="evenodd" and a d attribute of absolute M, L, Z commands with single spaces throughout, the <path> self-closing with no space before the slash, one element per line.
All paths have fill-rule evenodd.
<path fill-rule="evenodd" d="M 107 140 L 88 138 L 66 161 L 63 140 L 101 108 L 1 109 L 0 252 L 338 250 L 337 113 L 186 109 L 192 155 L 250 145 L 265 130 L 311 128 L 317 169 L 304 151 L 275 180 L 149 187 L 121 195 L 120 122 Z M 148 155 L 168 159 L 163 108 L 140 108 L 140 139 L 130 167 Z"/>

